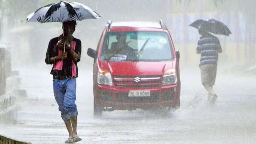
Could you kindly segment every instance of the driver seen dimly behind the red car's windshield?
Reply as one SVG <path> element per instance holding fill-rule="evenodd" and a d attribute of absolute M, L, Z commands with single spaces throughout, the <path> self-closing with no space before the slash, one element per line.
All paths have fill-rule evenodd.
<path fill-rule="evenodd" d="M 119 33 L 116 36 L 117 42 L 111 43 L 111 54 L 113 56 L 122 56 L 125 60 L 132 60 L 135 57 L 133 48 L 128 46 L 125 33 Z"/>

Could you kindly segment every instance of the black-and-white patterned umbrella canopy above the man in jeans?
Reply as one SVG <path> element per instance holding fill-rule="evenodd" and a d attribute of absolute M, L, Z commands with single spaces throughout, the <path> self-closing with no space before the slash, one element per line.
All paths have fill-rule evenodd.
<path fill-rule="evenodd" d="M 65 22 L 101 18 L 90 7 L 77 2 L 60 1 L 43 6 L 27 16 L 27 22 Z"/>

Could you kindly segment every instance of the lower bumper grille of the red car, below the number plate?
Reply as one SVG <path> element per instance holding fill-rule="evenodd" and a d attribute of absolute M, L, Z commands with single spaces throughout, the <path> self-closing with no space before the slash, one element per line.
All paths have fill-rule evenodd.
<path fill-rule="evenodd" d="M 116 93 L 118 103 L 156 103 L 158 99 L 158 93 L 151 93 L 150 96 L 143 97 L 129 97 L 128 93 Z"/>

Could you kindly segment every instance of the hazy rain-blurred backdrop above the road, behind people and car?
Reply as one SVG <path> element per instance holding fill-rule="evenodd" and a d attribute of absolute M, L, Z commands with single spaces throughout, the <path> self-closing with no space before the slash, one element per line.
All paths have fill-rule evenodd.
<path fill-rule="evenodd" d="M 0 40 L 9 43 L 12 67 L 47 67 L 44 63 L 48 42 L 62 33 L 61 23 L 26 23 L 26 16 L 56 0 L 0 0 Z M 234 72 L 255 64 L 255 0 L 76 0 L 102 19 L 78 22 L 74 36 L 82 41 L 82 65 L 91 65 L 87 48 L 96 49 L 108 20 L 153 21 L 162 19 L 169 29 L 176 50 L 181 53 L 180 67 L 198 69 L 196 54 L 199 34 L 188 26 L 200 18 L 214 18 L 225 23 L 232 32 L 229 37 L 217 35 L 223 53 L 219 55 L 218 71 Z M 49 67 L 50 69 L 50 67 Z"/>

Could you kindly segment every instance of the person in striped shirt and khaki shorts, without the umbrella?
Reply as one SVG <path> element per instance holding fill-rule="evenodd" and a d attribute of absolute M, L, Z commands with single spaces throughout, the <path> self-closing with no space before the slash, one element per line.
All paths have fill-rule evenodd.
<path fill-rule="evenodd" d="M 217 73 L 218 52 L 221 53 L 220 41 L 207 31 L 198 30 L 202 35 L 197 43 L 196 53 L 201 54 L 199 67 L 201 69 L 201 81 L 208 91 L 208 101 L 213 105 L 217 95 L 213 92 Z"/>

